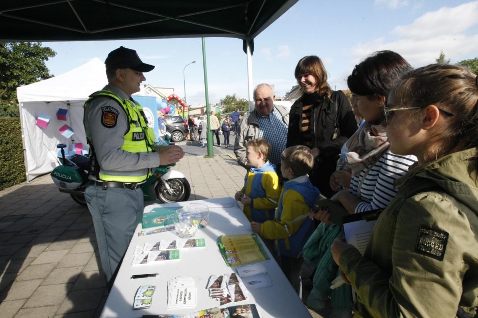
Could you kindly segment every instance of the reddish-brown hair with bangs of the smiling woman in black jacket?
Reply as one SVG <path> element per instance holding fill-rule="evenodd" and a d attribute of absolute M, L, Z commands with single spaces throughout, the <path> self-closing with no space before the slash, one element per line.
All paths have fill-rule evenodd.
<path fill-rule="evenodd" d="M 315 77 L 317 80 L 315 91 L 319 93 L 320 97 L 331 98 L 332 89 L 327 83 L 327 71 L 325 70 L 322 60 L 320 60 L 318 56 L 308 55 L 302 57 L 302 59 L 298 61 L 294 71 L 294 76 L 297 82 L 303 74 L 311 74 Z M 299 87 L 301 87 L 301 85 L 299 85 Z"/>

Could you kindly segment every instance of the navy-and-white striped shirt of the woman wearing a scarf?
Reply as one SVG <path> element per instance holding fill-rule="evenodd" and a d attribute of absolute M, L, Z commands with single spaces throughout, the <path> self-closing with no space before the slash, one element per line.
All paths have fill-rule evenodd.
<path fill-rule="evenodd" d="M 416 162 L 415 156 L 399 156 L 387 151 L 372 169 L 360 189 L 361 203 L 355 207 L 355 213 L 384 209 L 390 200 L 397 194 L 394 189 L 394 181 L 408 171 L 408 167 Z M 359 183 L 364 178 L 369 167 L 365 167 L 359 176 L 353 176 L 350 180 L 350 192 L 357 195 Z"/>

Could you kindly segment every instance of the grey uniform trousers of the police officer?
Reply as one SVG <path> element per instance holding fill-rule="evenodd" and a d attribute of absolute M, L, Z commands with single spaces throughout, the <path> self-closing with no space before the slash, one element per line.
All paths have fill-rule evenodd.
<path fill-rule="evenodd" d="M 109 281 L 143 217 L 143 191 L 141 188 L 103 190 L 88 184 L 85 199 L 93 217 L 101 266 Z"/>

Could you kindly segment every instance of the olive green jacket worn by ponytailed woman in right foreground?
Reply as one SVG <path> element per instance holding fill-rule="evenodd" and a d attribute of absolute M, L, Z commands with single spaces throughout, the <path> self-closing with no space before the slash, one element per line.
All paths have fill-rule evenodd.
<path fill-rule="evenodd" d="M 476 149 L 412 165 L 362 256 L 340 267 L 356 291 L 355 317 L 455 317 L 478 306 Z M 470 172 L 471 171 L 471 172 Z M 475 307 L 475 308 L 469 308 Z"/>

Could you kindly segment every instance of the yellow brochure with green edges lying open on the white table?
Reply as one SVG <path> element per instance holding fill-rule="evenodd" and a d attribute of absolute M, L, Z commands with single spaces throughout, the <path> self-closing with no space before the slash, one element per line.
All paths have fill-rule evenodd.
<path fill-rule="evenodd" d="M 222 235 L 217 244 L 227 266 L 239 266 L 269 259 L 257 234 Z"/>

